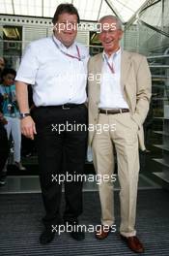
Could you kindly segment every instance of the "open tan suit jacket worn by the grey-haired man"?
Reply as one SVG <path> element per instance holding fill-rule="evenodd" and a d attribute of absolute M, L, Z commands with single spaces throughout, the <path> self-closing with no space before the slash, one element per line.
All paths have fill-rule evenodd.
<path fill-rule="evenodd" d="M 88 64 L 88 99 L 89 125 L 96 125 L 99 117 L 100 74 L 102 68 L 102 53 L 91 57 Z M 145 150 L 143 123 L 149 111 L 152 82 L 151 73 L 145 56 L 135 52 L 122 51 L 121 85 L 132 119 L 138 125 L 138 141 Z M 95 131 L 89 126 L 89 144 L 95 136 Z"/>

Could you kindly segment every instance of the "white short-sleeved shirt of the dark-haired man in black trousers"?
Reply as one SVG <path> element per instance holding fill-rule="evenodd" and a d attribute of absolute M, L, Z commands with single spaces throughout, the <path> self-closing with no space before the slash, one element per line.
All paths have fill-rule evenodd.
<path fill-rule="evenodd" d="M 57 48 L 56 44 L 59 48 Z M 72 58 L 62 52 L 78 56 Z M 15 80 L 32 84 L 37 107 L 86 101 L 88 49 L 79 43 L 66 48 L 54 36 L 32 42 L 22 57 Z"/>

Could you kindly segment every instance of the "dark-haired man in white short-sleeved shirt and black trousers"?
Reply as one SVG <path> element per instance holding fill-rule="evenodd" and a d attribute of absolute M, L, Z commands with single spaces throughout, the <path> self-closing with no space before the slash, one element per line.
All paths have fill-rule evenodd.
<path fill-rule="evenodd" d="M 15 78 L 22 133 L 37 139 L 46 212 L 45 229 L 40 237 L 42 244 L 53 240 L 53 231 L 61 223 L 61 180 L 65 181 L 64 222 L 71 225 L 73 239 L 84 239 L 83 232 L 73 229 L 82 212 L 82 182 L 74 177 L 83 175 L 84 171 L 87 140 L 84 103 L 89 53 L 87 48 L 74 42 L 79 16 L 73 5 L 59 5 L 52 21 L 53 36 L 29 45 Z M 29 83 L 36 106 L 33 118 L 28 108 Z"/>

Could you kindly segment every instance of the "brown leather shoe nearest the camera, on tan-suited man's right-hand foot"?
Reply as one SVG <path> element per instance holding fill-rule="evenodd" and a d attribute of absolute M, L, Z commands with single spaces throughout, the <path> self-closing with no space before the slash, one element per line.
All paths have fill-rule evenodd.
<path fill-rule="evenodd" d="M 121 235 L 121 239 L 127 242 L 127 246 L 134 252 L 141 253 L 144 252 L 144 247 L 141 241 L 136 237 L 124 237 Z"/>

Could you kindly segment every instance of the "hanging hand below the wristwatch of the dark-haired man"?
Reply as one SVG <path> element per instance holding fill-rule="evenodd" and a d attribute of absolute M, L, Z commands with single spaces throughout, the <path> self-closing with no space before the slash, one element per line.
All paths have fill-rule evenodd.
<path fill-rule="evenodd" d="M 37 134 L 35 122 L 31 116 L 26 116 L 21 119 L 21 133 L 27 138 L 34 140 L 34 135 Z"/>

